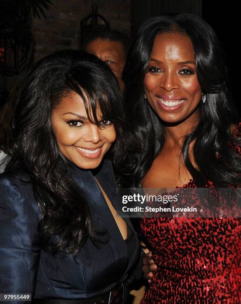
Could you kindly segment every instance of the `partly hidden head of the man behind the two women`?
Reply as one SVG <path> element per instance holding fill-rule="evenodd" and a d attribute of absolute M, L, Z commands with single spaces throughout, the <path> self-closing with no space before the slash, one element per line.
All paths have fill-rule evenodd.
<path fill-rule="evenodd" d="M 126 63 L 130 40 L 118 31 L 92 32 L 84 40 L 82 50 L 91 53 L 107 63 L 124 91 L 122 73 Z"/>

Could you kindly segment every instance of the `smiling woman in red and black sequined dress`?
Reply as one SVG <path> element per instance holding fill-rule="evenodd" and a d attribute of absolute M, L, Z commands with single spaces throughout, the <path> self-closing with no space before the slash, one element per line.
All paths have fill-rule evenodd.
<path fill-rule="evenodd" d="M 139 146 L 123 185 L 239 187 L 239 132 L 212 28 L 191 14 L 152 17 L 126 67 Z M 240 228 L 239 218 L 142 219 L 158 266 L 142 304 L 241 303 Z"/>

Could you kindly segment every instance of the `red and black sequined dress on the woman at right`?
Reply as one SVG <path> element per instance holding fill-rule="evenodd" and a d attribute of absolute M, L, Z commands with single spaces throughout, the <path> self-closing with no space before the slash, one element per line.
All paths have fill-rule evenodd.
<path fill-rule="evenodd" d="M 144 218 L 141 229 L 158 265 L 141 304 L 241 303 L 241 218 Z"/>

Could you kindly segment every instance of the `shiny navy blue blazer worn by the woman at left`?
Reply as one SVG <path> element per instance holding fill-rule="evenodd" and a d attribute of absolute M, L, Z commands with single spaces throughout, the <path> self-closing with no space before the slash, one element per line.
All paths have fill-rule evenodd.
<path fill-rule="evenodd" d="M 84 299 L 141 277 L 140 245 L 130 220 L 124 219 L 136 235 L 136 248 L 128 260 L 125 241 L 91 171 L 70 166 L 88 197 L 95 227 L 107 230 L 108 242 L 97 248 L 88 239 L 80 249 L 78 264 L 72 255 L 63 258 L 43 251 L 38 232 L 41 212 L 31 184 L 12 173 L 0 174 L 0 293 L 29 293 L 32 299 Z M 102 162 L 95 177 L 118 209 L 109 160 Z"/>

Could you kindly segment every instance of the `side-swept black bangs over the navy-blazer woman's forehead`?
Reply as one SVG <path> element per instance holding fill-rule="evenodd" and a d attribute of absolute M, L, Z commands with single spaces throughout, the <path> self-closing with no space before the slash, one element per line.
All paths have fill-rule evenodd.
<path fill-rule="evenodd" d="M 70 90 L 76 92 L 83 100 L 88 119 L 100 126 L 98 117 L 118 123 L 122 96 L 118 82 L 111 71 L 99 66 L 76 67 L 66 75 L 66 83 Z"/>

